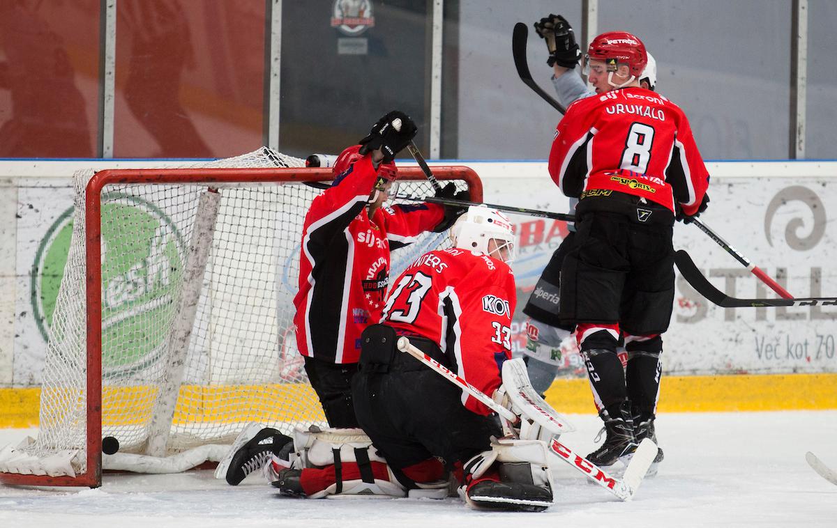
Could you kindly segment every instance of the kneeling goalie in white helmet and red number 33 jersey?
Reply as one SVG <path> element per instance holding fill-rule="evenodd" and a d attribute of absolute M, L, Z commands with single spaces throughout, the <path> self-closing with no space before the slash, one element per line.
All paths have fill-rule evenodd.
<path fill-rule="evenodd" d="M 552 504 L 546 444 L 492 441 L 503 431 L 490 409 L 396 348 L 406 336 L 483 393 L 502 393 L 516 302 L 511 224 L 498 211 L 472 206 L 451 238 L 454 247 L 419 257 L 393 282 L 381 324 L 362 334 L 360 371 L 352 380 L 362 431 L 354 431 L 368 434 L 372 445 L 346 429 L 328 432 L 327 439 L 316 430 L 300 432 L 290 461 L 301 459 L 305 469 L 279 457 L 267 468 L 285 495 L 413 496 L 436 489 L 444 496 L 452 472 L 470 505 L 542 510 Z M 324 441 L 311 439 L 316 436 Z"/>

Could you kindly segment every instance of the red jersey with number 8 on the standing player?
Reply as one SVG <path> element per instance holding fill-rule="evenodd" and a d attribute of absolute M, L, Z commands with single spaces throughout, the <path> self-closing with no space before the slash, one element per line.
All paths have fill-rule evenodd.
<path fill-rule="evenodd" d="M 639 195 L 687 215 L 701 206 L 709 173 L 683 111 L 642 88 L 578 99 L 555 131 L 549 174 L 573 198 Z"/>

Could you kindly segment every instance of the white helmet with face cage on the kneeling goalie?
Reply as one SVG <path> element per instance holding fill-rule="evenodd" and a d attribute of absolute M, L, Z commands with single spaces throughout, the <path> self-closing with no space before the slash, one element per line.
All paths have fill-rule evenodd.
<path fill-rule="evenodd" d="M 470 206 L 450 228 L 454 247 L 474 251 L 510 264 L 515 258 L 515 232 L 511 221 L 496 209 Z"/>

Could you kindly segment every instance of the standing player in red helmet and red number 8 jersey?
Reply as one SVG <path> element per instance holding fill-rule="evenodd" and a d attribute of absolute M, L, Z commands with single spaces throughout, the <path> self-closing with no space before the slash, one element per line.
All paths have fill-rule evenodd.
<path fill-rule="evenodd" d="M 709 175 L 686 115 L 639 86 L 646 61 L 631 33 L 594 38 L 585 69 L 597 95 L 567 109 L 549 156 L 552 180 L 580 200 L 559 317 L 577 325 L 604 421 L 607 438 L 588 454 L 600 466 L 626 459 L 635 442 L 655 435 L 660 334 L 674 302 L 672 227 L 675 216 L 688 221 L 709 202 Z M 626 370 L 616 354 L 620 333 Z"/>

